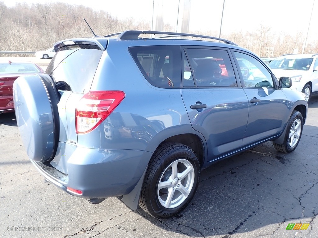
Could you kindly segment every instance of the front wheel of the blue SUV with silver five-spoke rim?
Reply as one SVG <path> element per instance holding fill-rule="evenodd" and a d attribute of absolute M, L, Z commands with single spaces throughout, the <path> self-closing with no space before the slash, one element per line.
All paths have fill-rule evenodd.
<path fill-rule="evenodd" d="M 289 136 L 292 132 L 293 126 L 297 126 L 297 129 L 295 129 L 292 136 Z M 273 145 L 277 151 L 284 152 L 284 153 L 290 153 L 296 149 L 302 134 L 302 129 L 304 126 L 304 119 L 299 111 L 293 111 L 292 115 L 290 116 L 288 123 L 287 123 L 287 129 L 286 134 L 284 138 L 283 144 L 277 144 L 273 142 Z M 301 127 L 300 129 L 298 127 Z M 294 129 L 293 129 L 294 130 Z M 299 135 L 298 135 L 299 134 Z M 297 138 L 298 140 L 295 142 L 294 140 Z"/>

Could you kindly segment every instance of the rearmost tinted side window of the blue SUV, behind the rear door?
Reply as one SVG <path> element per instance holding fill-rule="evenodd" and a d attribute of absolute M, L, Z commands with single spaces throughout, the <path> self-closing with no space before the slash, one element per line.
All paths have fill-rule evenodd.
<path fill-rule="evenodd" d="M 149 83 L 159 88 L 181 87 L 181 47 L 142 46 L 129 48 Z"/>

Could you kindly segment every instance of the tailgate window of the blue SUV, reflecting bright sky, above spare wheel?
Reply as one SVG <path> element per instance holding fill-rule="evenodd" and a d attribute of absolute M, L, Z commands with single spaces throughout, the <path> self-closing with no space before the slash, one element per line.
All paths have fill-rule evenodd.
<path fill-rule="evenodd" d="M 102 50 L 93 45 L 62 47 L 45 73 L 52 76 L 59 89 L 77 93 L 88 92 L 102 53 Z"/>

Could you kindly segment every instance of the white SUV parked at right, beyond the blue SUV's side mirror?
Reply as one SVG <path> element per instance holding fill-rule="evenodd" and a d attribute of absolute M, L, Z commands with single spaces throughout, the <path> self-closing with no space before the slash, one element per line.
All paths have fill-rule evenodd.
<path fill-rule="evenodd" d="M 312 94 L 318 94 L 318 54 L 283 55 L 268 66 L 276 77 L 290 77 L 291 89 L 303 92 L 307 102 Z"/>

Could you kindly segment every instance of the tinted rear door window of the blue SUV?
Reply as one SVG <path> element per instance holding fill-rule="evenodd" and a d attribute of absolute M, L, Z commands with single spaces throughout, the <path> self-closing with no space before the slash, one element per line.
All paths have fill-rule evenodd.
<path fill-rule="evenodd" d="M 197 87 L 237 87 L 232 63 L 226 50 L 186 49 L 185 51 L 192 70 L 190 78 L 193 76 Z M 186 65 L 184 71 L 187 71 Z M 186 80 L 184 76 L 184 86 Z"/>

